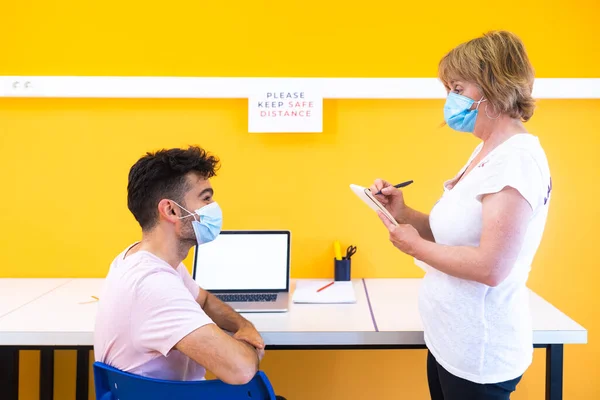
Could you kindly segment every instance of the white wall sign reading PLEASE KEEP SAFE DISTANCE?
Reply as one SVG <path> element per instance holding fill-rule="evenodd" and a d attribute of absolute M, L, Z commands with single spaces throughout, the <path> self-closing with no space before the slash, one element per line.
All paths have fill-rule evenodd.
<path fill-rule="evenodd" d="M 248 132 L 322 132 L 323 98 L 314 91 L 265 89 L 248 99 Z"/>

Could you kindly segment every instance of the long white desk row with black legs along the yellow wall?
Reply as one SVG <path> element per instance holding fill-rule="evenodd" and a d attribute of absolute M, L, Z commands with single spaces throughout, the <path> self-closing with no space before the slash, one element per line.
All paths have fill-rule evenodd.
<path fill-rule="evenodd" d="M 8 286 L 5 281 L 0 279 L 0 287 Z M 57 280 L 31 280 L 31 285 L 25 281 L 22 293 L 17 294 L 25 301 L 0 317 L 0 361 L 19 349 L 42 349 L 40 398 L 46 400 L 52 399 L 53 350 L 77 349 L 76 398 L 87 400 L 97 308 L 90 301 L 91 296 L 99 296 L 104 280 L 72 279 L 58 284 Z M 290 296 L 287 313 L 244 316 L 255 324 L 269 349 L 425 348 L 417 308 L 419 285 L 419 279 L 355 280 L 356 304 L 293 304 Z M 46 292 L 38 290 L 42 287 Z M 587 331 L 534 293 L 531 307 L 536 347 L 547 349 L 546 398 L 560 400 L 563 345 L 586 343 Z M 8 400 L 17 398 L 18 387 L 14 379 L 18 364 L 11 362 L 0 362 L 0 393 Z"/>

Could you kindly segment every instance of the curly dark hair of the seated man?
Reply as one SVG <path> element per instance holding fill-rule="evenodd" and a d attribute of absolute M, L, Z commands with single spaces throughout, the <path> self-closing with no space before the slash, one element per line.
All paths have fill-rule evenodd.
<path fill-rule="evenodd" d="M 127 207 L 142 230 L 148 231 L 158 221 L 157 206 L 162 199 L 183 203 L 189 172 L 209 179 L 218 168 L 219 159 L 198 146 L 148 152 L 129 170 Z"/>

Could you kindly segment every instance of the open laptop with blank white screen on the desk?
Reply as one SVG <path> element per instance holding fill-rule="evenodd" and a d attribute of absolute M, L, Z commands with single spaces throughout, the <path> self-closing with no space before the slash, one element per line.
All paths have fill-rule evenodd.
<path fill-rule="evenodd" d="M 284 312 L 290 288 L 290 231 L 222 231 L 196 246 L 192 276 L 237 312 Z"/>

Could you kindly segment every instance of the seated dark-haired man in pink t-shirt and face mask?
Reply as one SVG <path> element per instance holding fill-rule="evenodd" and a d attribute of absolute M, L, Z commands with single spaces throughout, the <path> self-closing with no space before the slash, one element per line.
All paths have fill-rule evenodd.
<path fill-rule="evenodd" d="M 96 361 L 167 380 L 201 380 L 206 368 L 245 384 L 257 373 L 265 351 L 258 331 L 182 264 L 192 247 L 220 233 L 209 182 L 218 164 L 190 147 L 147 153 L 131 168 L 127 204 L 142 240 L 110 266 L 96 317 Z"/>

